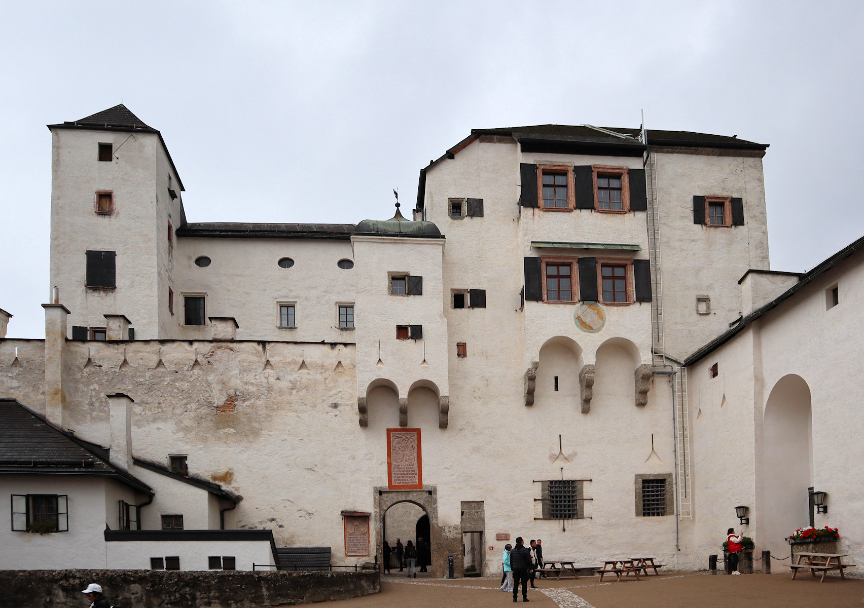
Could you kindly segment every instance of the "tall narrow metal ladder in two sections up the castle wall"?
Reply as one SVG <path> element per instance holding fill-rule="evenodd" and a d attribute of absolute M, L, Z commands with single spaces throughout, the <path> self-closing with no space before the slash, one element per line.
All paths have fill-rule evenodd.
<path fill-rule="evenodd" d="M 645 118 L 639 134 L 642 143 L 648 143 Z M 651 258 L 651 363 L 656 371 L 668 370 L 664 344 L 663 318 L 663 266 L 661 264 L 660 209 L 657 195 L 656 157 L 651 150 L 645 152 L 645 193 L 648 199 L 648 254 Z M 689 413 L 687 408 L 687 368 L 674 366 L 672 389 L 675 392 L 675 459 L 678 518 L 693 517 L 692 488 L 690 486 Z M 669 373 L 669 372 L 666 372 Z"/>

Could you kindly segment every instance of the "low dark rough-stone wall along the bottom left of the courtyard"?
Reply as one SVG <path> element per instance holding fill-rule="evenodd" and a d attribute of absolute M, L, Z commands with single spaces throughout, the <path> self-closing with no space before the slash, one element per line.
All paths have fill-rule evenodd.
<path fill-rule="evenodd" d="M 267 608 L 356 598 L 381 591 L 378 572 L 4 570 L 0 608 L 80 608 L 90 583 L 118 608 Z"/>

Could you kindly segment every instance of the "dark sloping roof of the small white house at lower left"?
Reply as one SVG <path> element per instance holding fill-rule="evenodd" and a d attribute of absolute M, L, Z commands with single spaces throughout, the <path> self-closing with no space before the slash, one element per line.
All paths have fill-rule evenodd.
<path fill-rule="evenodd" d="M 108 450 L 63 432 L 15 399 L 0 399 L 0 472 L 98 475 L 153 493 L 149 485 L 111 465 Z"/>

